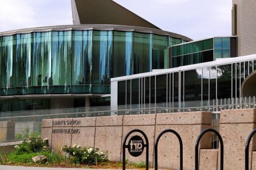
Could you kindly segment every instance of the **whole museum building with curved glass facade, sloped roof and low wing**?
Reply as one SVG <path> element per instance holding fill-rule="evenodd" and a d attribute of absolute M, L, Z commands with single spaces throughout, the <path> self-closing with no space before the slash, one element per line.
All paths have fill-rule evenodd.
<path fill-rule="evenodd" d="M 243 97 L 256 70 L 255 27 L 241 26 L 255 24 L 243 18 L 251 1 L 234 0 L 232 36 L 192 41 L 112 0 L 71 0 L 74 25 L 0 33 L 0 112 Z"/>

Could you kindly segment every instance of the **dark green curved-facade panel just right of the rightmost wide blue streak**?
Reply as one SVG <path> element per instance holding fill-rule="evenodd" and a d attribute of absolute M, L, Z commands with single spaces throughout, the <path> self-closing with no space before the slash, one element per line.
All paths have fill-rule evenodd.
<path fill-rule="evenodd" d="M 152 35 L 134 33 L 133 74 L 152 70 Z"/>

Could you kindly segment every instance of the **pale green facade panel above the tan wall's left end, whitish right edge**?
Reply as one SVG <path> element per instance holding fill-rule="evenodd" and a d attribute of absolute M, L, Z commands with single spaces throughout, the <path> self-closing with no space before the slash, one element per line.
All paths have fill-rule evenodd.
<path fill-rule="evenodd" d="M 51 32 L 33 34 L 33 83 L 34 94 L 48 94 L 51 86 Z"/>

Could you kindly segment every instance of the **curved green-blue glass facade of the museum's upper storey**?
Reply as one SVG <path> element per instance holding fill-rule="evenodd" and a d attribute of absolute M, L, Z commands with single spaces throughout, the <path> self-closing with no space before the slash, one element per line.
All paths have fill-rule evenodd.
<path fill-rule="evenodd" d="M 110 94 L 110 78 L 168 68 L 168 47 L 182 41 L 113 30 L 0 36 L 1 96 Z"/>

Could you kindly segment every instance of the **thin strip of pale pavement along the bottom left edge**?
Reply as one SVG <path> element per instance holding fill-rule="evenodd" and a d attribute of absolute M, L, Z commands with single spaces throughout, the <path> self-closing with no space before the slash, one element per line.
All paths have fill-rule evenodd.
<path fill-rule="evenodd" d="M 0 165 L 0 170 L 89 170 L 89 169 L 82 169 L 82 168 L 41 168 L 41 167 Z M 90 169 L 90 170 L 92 170 L 92 169 Z M 97 170 L 111 170 L 111 169 L 97 169 Z"/>

